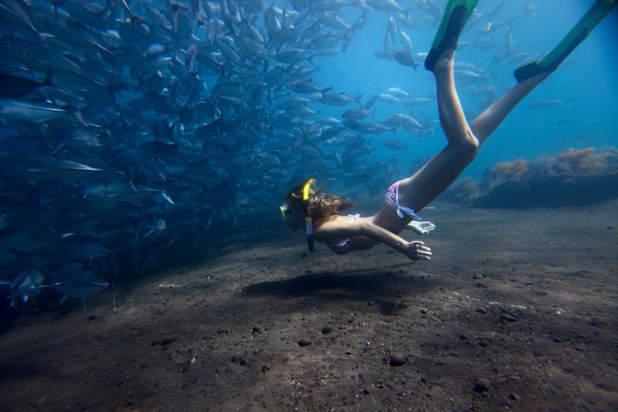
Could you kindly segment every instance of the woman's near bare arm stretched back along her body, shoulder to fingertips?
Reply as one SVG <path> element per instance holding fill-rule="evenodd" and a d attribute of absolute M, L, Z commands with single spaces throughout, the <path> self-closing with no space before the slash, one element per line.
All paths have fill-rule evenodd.
<path fill-rule="evenodd" d="M 367 237 L 375 243 L 386 244 L 411 260 L 429 260 L 431 258 L 431 249 L 426 247 L 423 242 L 408 242 L 395 233 L 374 225 L 369 220 L 350 222 L 347 218 L 334 218 L 321 222 L 320 225 L 314 227 L 314 235 L 319 242 L 329 242 L 329 239 Z M 354 242 L 352 242 L 352 245 L 354 245 Z"/>

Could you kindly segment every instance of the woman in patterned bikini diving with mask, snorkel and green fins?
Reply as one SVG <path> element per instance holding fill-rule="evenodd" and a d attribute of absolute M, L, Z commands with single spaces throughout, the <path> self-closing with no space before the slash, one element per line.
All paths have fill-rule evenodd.
<path fill-rule="evenodd" d="M 446 148 L 413 176 L 393 183 L 374 216 L 339 216 L 339 212 L 352 209 L 354 203 L 334 194 L 321 194 L 323 187 L 313 190 L 314 179 L 294 187 L 284 199 L 281 211 L 291 229 L 306 230 L 310 251 L 314 240 L 325 243 L 338 255 L 384 243 L 411 260 L 429 260 L 431 249 L 424 242 L 408 242 L 399 233 L 411 229 L 422 234 L 434 229 L 430 222 L 412 220 L 419 218 L 424 207 L 457 179 L 510 111 L 558 68 L 616 3 L 616 0 L 598 0 L 547 56 L 516 69 L 514 87 L 468 124 L 455 91 L 453 59 L 461 30 L 478 1 L 447 1 L 425 60 L 425 68 L 435 76 L 440 124 L 448 140 Z"/>

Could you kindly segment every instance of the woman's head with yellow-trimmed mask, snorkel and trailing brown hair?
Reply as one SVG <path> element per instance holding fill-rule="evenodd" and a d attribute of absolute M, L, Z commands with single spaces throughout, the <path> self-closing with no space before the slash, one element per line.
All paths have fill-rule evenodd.
<path fill-rule="evenodd" d="M 314 179 L 296 185 L 288 192 L 281 207 L 284 219 L 293 231 L 305 227 L 305 217 L 321 219 L 339 214 L 339 211 L 352 209 L 356 203 L 334 194 L 321 194 L 324 186 L 313 190 Z"/>

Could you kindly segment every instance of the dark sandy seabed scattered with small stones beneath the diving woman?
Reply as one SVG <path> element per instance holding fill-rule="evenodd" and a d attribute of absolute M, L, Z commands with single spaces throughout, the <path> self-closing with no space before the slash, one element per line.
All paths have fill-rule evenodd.
<path fill-rule="evenodd" d="M 245 216 L 120 279 L 117 312 L 30 310 L 0 335 L 0 410 L 617 410 L 618 202 L 437 207 L 404 233 L 431 262 L 308 254 Z"/>

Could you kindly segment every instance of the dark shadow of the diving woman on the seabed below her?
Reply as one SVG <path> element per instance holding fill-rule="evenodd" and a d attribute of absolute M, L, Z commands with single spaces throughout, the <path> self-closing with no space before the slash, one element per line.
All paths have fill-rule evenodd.
<path fill-rule="evenodd" d="M 407 307 L 407 298 L 422 293 L 433 284 L 431 279 L 420 279 L 398 270 L 398 267 L 404 266 L 406 264 L 339 273 L 306 273 L 288 279 L 254 283 L 245 287 L 243 293 L 282 299 L 313 296 L 325 300 L 366 301 L 378 306 L 380 312 L 392 314 Z"/>

